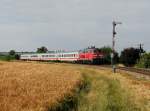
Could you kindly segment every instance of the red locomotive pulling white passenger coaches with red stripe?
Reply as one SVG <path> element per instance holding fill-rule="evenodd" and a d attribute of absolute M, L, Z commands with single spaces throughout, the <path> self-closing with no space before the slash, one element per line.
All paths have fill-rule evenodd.
<path fill-rule="evenodd" d="M 99 64 L 104 57 L 97 48 L 87 48 L 80 51 L 69 52 L 50 52 L 50 53 L 33 53 L 21 54 L 21 60 L 29 61 L 63 61 L 85 64 Z"/>

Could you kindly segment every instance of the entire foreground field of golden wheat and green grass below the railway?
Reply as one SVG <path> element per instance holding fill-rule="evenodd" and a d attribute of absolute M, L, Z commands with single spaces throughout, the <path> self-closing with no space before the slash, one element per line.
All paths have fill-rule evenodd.
<path fill-rule="evenodd" d="M 77 111 L 149 111 L 149 83 L 108 68 L 0 61 L 0 111 L 53 111 L 67 97 L 78 98 Z"/>

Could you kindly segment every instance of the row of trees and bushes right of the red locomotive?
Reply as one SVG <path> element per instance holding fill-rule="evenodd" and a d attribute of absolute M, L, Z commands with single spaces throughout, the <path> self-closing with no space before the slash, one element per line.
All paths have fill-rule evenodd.
<path fill-rule="evenodd" d="M 110 47 L 102 47 L 99 50 L 104 54 L 102 63 L 111 64 L 112 49 Z M 144 51 L 143 48 L 129 47 L 123 49 L 120 56 L 118 52 L 115 52 L 114 61 L 115 64 L 123 64 L 127 67 L 150 68 L 150 53 Z"/>

